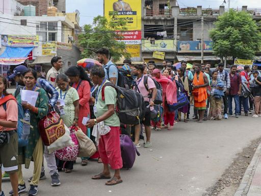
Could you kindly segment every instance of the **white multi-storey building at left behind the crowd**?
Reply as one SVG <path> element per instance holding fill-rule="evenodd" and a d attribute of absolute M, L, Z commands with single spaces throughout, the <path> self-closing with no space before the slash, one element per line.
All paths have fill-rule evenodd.
<path fill-rule="evenodd" d="M 0 35 L 2 35 L 2 38 L 8 39 L 8 36 L 12 35 L 20 35 L 19 39 L 23 39 L 22 36 L 34 38 L 39 36 L 39 41 L 37 40 L 37 44 L 33 44 L 33 51 L 30 53 L 30 63 L 34 63 L 32 65 L 43 64 L 50 66 L 50 59 L 55 55 L 63 57 L 64 70 L 68 66 L 76 65 L 81 54 L 79 48 L 73 45 L 75 35 L 81 31 L 79 11 L 76 10 L 73 13 L 59 12 L 60 9 L 65 10 L 65 0 L 53 2 L 54 5 L 60 6 L 60 9 L 55 9 L 57 11 L 52 13 L 51 16 L 49 16 L 48 12 L 49 5 L 45 3 L 49 1 L 3 1 L 5 1 L 5 4 L 2 7 L 0 6 Z M 36 10 L 35 16 L 24 14 L 27 12 L 25 8 L 28 5 L 35 5 L 33 7 Z M 55 52 L 46 52 L 44 54 L 46 44 L 51 42 L 55 43 Z M 2 41 L 0 55 L 5 52 L 7 46 L 12 47 L 13 45 L 10 43 L 3 44 Z M 53 47 L 53 45 L 51 46 Z M 29 45 L 23 44 L 21 47 L 29 47 Z M 47 70 L 48 67 L 45 69 Z"/>

